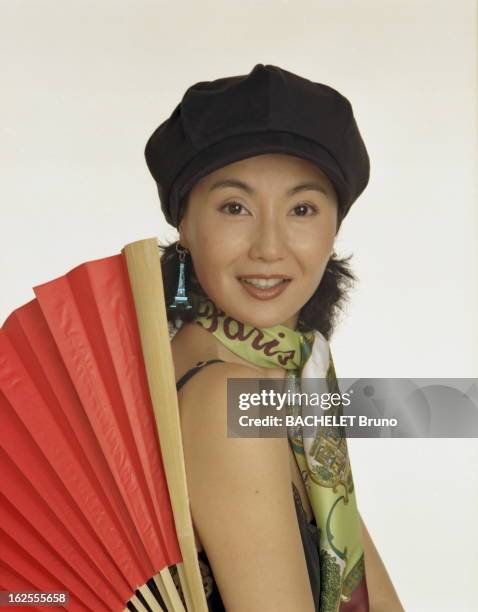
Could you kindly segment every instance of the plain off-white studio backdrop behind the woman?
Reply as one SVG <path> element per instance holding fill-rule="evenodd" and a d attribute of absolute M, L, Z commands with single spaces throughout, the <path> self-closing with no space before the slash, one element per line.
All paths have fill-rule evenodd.
<path fill-rule="evenodd" d="M 173 239 L 143 150 L 187 87 L 256 63 L 352 102 L 371 179 L 340 231 L 357 284 L 342 377 L 476 377 L 472 0 L 0 2 L 0 319 L 127 242 Z M 477 609 L 475 440 L 351 440 L 362 515 L 407 611 Z"/>

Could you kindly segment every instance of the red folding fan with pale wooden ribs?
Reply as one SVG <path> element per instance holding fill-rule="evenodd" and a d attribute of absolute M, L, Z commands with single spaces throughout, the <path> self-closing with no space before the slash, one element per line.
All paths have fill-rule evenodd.
<path fill-rule="evenodd" d="M 176 565 L 207 610 L 157 240 L 34 292 L 0 329 L 0 590 L 180 611 Z"/>

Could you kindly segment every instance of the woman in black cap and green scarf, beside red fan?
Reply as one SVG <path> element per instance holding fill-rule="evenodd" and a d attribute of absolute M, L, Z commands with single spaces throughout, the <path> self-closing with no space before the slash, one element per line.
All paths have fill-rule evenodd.
<path fill-rule="evenodd" d="M 145 153 L 179 230 L 162 262 L 209 608 L 402 610 L 343 439 L 326 464 L 320 436 L 227 437 L 228 378 L 336 384 L 327 340 L 353 276 L 333 245 L 369 178 L 350 103 L 258 64 L 189 88 Z"/>

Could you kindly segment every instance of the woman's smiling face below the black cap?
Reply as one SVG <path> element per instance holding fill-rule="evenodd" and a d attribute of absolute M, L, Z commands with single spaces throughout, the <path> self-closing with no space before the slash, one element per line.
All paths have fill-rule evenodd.
<path fill-rule="evenodd" d="M 179 239 L 216 306 L 255 327 L 293 329 L 320 283 L 336 228 L 337 195 L 326 175 L 312 162 L 274 153 L 200 179 Z M 287 279 L 277 289 L 250 284 L 276 275 Z"/>

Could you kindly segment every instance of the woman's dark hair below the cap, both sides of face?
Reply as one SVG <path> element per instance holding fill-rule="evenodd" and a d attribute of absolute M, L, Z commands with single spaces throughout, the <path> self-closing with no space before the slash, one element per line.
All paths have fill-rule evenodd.
<path fill-rule="evenodd" d="M 339 223 L 340 221 L 341 219 Z M 175 327 L 179 327 L 177 320 L 185 323 L 192 321 L 198 314 L 199 302 L 208 296 L 196 277 L 191 254 L 188 252 L 185 259 L 185 284 L 192 308 L 184 312 L 168 308 L 168 305 L 174 302 L 178 286 L 179 254 L 176 251 L 176 245 L 177 241 L 160 245 L 159 248 L 168 321 L 172 322 Z M 340 311 L 343 311 L 343 306 L 348 299 L 349 290 L 357 280 L 350 268 L 351 258 L 352 255 L 339 259 L 334 254 L 329 259 L 319 286 L 300 310 L 297 324 L 299 331 L 317 330 L 327 340 L 330 340 Z"/>

